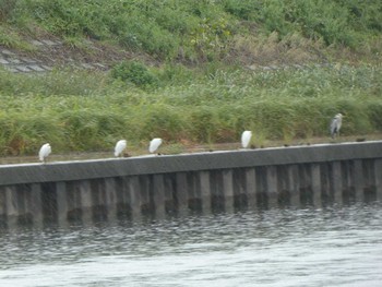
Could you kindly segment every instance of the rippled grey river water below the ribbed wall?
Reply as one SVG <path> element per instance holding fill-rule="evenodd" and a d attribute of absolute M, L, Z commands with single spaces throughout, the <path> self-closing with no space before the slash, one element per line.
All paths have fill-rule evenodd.
<path fill-rule="evenodd" d="M 382 286 L 382 203 L 0 230 L 0 286 Z"/>

